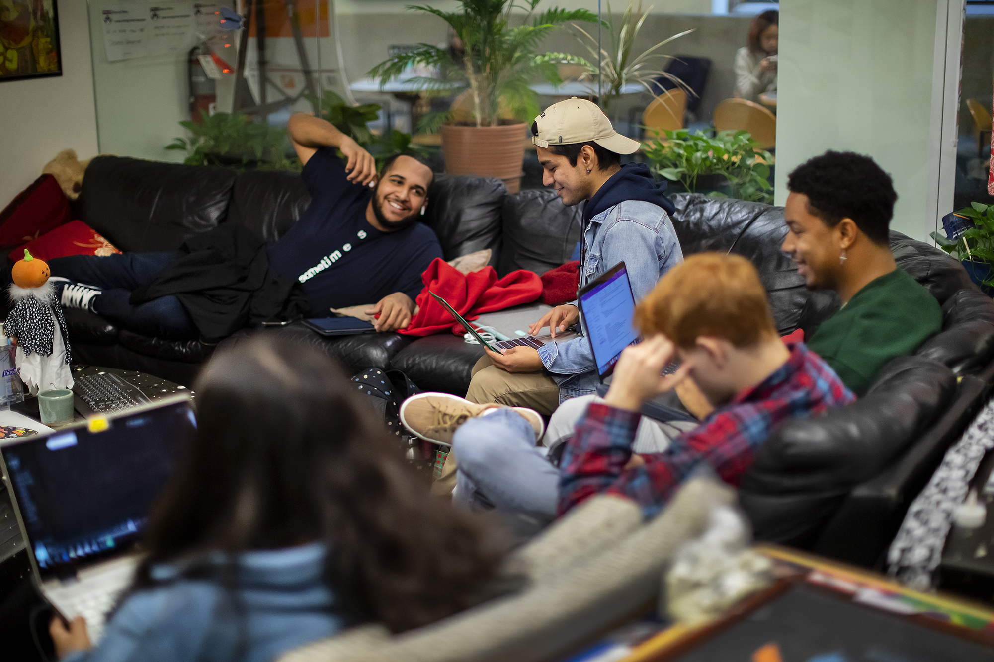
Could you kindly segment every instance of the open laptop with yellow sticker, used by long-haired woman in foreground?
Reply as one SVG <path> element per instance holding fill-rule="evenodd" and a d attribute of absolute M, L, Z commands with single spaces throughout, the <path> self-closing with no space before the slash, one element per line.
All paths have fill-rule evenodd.
<path fill-rule="evenodd" d="M 0 446 L 34 579 L 65 618 L 86 618 L 94 643 L 194 427 L 190 397 L 179 394 Z"/>

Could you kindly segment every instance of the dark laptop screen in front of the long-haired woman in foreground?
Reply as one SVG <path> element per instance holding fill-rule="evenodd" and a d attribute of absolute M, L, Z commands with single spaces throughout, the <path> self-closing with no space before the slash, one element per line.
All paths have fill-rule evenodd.
<path fill-rule="evenodd" d="M 131 546 L 193 428 L 184 402 L 112 418 L 100 432 L 75 428 L 5 446 L 39 570 Z"/>

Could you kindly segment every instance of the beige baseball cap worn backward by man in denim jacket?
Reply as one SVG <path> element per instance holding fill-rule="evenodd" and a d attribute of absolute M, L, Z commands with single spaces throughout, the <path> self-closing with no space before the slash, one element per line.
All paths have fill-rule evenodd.
<path fill-rule="evenodd" d="M 640 146 L 638 140 L 615 131 L 596 103 L 576 96 L 550 105 L 535 118 L 534 126 L 532 142 L 539 147 L 592 141 L 615 154 L 632 154 Z"/>

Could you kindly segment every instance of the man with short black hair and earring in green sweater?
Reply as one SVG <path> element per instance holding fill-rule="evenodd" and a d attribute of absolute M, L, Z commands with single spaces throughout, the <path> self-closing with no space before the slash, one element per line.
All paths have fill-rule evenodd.
<path fill-rule="evenodd" d="M 854 152 L 825 152 L 787 179 L 783 250 L 808 289 L 832 289 L 842 307 L 807 346 L 863 396 L 880 370 L 942 328 L 942 309 L 898 267 L 888 242 L 898 194 L 890 175 Z"/>

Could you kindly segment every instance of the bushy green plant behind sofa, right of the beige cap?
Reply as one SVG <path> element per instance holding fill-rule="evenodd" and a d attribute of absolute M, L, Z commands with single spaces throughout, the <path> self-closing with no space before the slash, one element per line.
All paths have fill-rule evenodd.
<path fill-rule="evenodd" d="M 728 180 L 731 197 L 772 203 L 769 166 L 772 156 L 758 149 L 746 131 L 720 131 L 710 136 L 688 129 L 664 131 L 666 139 L 653 140 L 645 148 L 649 168 L 660 177 L 680 182 L 694 193 L 698 177 L 722 175 Z M 724 197 L 719 192 L 713 196 Z"/>

